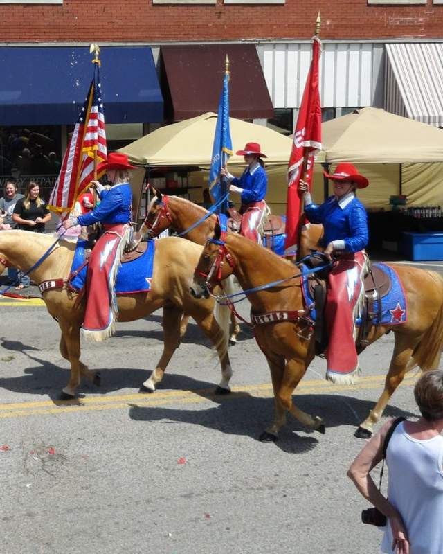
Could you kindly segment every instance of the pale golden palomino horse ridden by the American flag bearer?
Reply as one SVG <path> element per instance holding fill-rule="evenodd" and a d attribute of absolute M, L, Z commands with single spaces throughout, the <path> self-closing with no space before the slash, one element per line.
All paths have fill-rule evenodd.
<path fill-rule="evenodd" d="M 28 271 L 53 243 L 53 235 L 42 235 L 29 231 L 2 231 L 0 233 L 0 257 L 22 271 Z M 46 280 L 66 279 L 71 270 L 75 244 L 60 241 L 59 245 L 32 273 L 36 283 Z M 232 376 L 228 347 L 228 315 L 221 326 L 213 315 L 214 301 L 204 303 L 195 300 L 190 294 L 189 285 L 192 273 L 199 260 L 201 247 L 181 238 L 168 238 L 156 241 L 152 287 L 148 293 L 118 295 L 118 320 L 134 321 L 141 319 L 163 307 L 164 344 L 163 353 L 149 379 L 141 386 L 141 392 L 153 392 L 161 382 L 165 368 L 172 354 L 180 344 L 180 320 L 183 311 L 191 314 L 199 327 L 217 348 L 221 363 L 221 382 L 216 393 L 229 392 Z M 98 372 L 91 371 L 80 361 L 80 327 L 84 316 L 84 301 L 76 302 L 78 294 L 63 288 L 49 289 L 43 293 L 48 312 L 58 321 L 62 337 L 60 352 L 71 363 L 71 376 L 64 387 L 62 398 L 75 397 L 80 385 L 80 375 L 100 384 Z"/>

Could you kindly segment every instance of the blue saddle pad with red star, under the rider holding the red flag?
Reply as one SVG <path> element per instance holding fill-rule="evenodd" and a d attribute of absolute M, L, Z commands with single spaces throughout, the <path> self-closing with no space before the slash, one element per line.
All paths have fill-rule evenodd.
<path fill-rule="evenodd" d="M 377 263 L 374 264 L 382 269 L 390 277 L 391 287 L 386 296 L 381 298 L 381 325 L 399 325 L 400 323 L 406 323 L 408 321 L 408 311 L 406 305 L 406 296 L 404 294 L 403 285 L 401 285 L 397 271 L 389 267 L 388 265 Z M 304 271 L 307 271 L 306 267 L 303 267 Z M 307 306 L 312 306 L 311 319 L 316 320 L 316 310 L 314 306 L 314 298 L 312 298 L 309 292 L 309 286 L 307 284 L 307 277 L 302 278 L 302 290 L 303 296 Z M 378 318 L 379 300 L 374 301 L 374 324 L 379 323 Z M 357 318 L 356 325 L 360 325 L 361 320 Z"/>

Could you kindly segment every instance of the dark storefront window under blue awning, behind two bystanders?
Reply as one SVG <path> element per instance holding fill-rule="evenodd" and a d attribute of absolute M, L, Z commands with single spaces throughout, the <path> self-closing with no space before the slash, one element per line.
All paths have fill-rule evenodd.
<path fill-rule="evenodd" d="M 60 172 L 60 129 L 59 125 L 0 127 L 0 193 L 8 177 L 15 177 L 20 190 L 32 178 L 48 198 Z"/>

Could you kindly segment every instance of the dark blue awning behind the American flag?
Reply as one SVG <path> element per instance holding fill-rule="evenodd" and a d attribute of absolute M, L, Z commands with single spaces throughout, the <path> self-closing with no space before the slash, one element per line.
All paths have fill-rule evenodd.
<path fill-rule="evenodd" d="M 0 125 L 75 123 L 93 77 L 87 47 L 0 48 Z M 102 47 L 107 123 L 163 120 L 163 97 L 151 48 Z"/>

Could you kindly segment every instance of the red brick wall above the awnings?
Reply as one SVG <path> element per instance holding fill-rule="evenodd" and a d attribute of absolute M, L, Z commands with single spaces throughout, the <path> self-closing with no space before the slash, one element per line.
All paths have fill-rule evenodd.
<path fill-rule="evenodd" d="M 324 39 L 442 38 L 443 5 L 368 6 L 366 0 L 286 0 L 284 6 L 153 6 L 152 0 L 1 5 L 0 42 L 308 39 L 318 9 Z"/>

